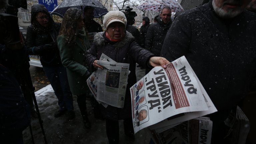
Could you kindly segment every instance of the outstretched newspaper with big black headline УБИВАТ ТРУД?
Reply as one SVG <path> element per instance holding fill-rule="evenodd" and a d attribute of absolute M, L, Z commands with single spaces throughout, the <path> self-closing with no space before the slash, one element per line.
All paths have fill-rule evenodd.
<path fill-rule="evenodd" d="M 151 129 L 175 126 L 217 111 L 185 56 L 165 69 L 153 68 L 130 92 L 135 133 L 153 124 Z"/>

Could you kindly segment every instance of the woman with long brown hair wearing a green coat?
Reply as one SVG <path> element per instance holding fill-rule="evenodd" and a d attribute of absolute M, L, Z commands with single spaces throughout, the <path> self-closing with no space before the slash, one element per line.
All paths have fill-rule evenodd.
<path fill-rule="evenodd" d="M 67 69 L 70 90 L 74 95 L 77 95 L 77 103 L 84 126 L 90 128 L 91 124 L 86 110 L 86 93 L 90 91 L 86 80 L 90 76 L 90 72 L 84 59 L 84 53 L 90 48 L 90 44 L 80 9 L 70 8 L 66 11 L 57 42 L 61 62 Z"/>

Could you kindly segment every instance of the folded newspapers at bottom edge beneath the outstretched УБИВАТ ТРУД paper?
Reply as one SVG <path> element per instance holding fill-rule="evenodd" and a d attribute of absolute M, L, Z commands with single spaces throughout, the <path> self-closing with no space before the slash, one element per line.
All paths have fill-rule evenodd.
<path fill-rule="evenodd" d="M 210 144 L 212 121 L 206 117 L 199 117 L 163 132 L 156 132 L 156 130 L 151 132 L 156 144 Z"/>

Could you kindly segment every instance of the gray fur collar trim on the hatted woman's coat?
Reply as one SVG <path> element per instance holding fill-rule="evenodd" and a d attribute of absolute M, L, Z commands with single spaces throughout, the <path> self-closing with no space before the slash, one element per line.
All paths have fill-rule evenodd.
<path fill-rule="evenodd" d="M 94 36 L 94 41 L 93 43 L 95 43 L 95 45 L 105 45 L 105 43 L 107 42 L 105 40 L 105 38 L 103 37 L 103 34 L 105 32 L 99 32 Z M 126 34 L 124 36 L 124 38 L 121 41 L 116 42 L 115 44 L 113 44 L 113 46 L 117 49 L 124 47 L 126 44 L 130 43 L 131 41 L 135 40 L 134 36 L 132 36 L 131 33 L 129 33 L 128 31 L 126 31 Z"/>

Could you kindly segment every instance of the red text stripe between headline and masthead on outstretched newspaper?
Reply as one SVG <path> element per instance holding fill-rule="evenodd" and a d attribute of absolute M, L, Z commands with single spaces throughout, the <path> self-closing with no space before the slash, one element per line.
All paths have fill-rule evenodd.
<path fill-rule="evenodd" d="M 165 71 L 171 82 L 173 101 L 176 109 L 182 108 L 182 107 L 188 107 L 189 106 L 188 99 L 186 97 L 185 91 L 182 87 L 181 81 L 179 79 L 179 76 L 173 64 L 172 63 L 168 64 Z"/>

